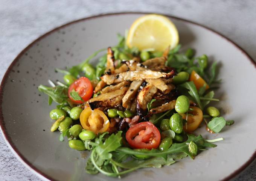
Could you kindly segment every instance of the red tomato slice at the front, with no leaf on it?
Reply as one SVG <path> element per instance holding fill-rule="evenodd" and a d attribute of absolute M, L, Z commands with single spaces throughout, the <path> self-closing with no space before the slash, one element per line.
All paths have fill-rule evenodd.
<path fill-rule="evenodd" d="M 158 148 L 160 144 L 160 132 L 151 122 L 140 122 L 129 128 L 126 132 L 126 140 L 132 148 Z"/>

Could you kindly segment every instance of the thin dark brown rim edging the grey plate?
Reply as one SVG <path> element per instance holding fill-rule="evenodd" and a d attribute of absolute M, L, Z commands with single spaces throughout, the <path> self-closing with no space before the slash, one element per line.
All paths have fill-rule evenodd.
<path fill-rule="evenodd" d="M 104 16 L 113 16 L 113 15 L 123 15 L 123 14 L 159 14 L 159 13 L 152 13 L 152 12 L 117 12 L 117 13 L 107 13 L 107 14 L 99 14 L 99 15 L 95 15 L 95 16 L 91 16 L 91 17 L 87 17 L 87 18 L 82 18 L 79 20 L 75 20 L 75 21 L 71 21 L 69 23 L 66 23 L 62 26 L 59 26 L 53 30 L 50 30 L 49 32 L 45 33 L 44 35 L 40 36 L 39 38 L 37 38 L 36 40 L 34 40 L 32 43 L 30 43 L 26 48 L 24 48 L 24 50 L 22 50 L 18 56 L 12 61 L 11 65 L 9 65 L 7 71 L 5 72 L 5 75 L 3 76 L 1 85 L 0 85 L 0 127 L 3 133 L 3 136 L 5 137 L 5 140 L 7 142 L 7 144 L 11 147 L 11 150 L 14 151 L 15 155 L 20 158 L 20 160 L 25 163 L 25 165 L 31 170 L 34 170 L 35 173 L 38 174 L 38 176 L 43 176 L 44 178 L 47 178 L 49 180 L 55 180 L 53 178 L 51 178 L 50 176 L 46 175 L 45 173 L 41 172 L 39 169 L 37 169 L 35 166 L 33 166 L 22 154 L 20 151 L 18 151 L 18 149 L 15 147 L 15 145 L 12 143 L 11 137 L 8 135 L 8 133 L 5 131 L 5 123 L 3 120 L 3 112 L 2 112 L 2 102 L 3 102 L 3 89 L 5 87 L 5 83 L 6 80 L 8 78 L 8 74 L 11 71 L 12 67 L 15 65 L 15 63 L 18 61 L 18 59 L 20 59 L 20 57 L 27 51 L 29 50 L 30 47 L 32 47 L 34 44 L 36 44 L 38 41 L 40 41 L 41 39 L 43 39 L 44 37 L 50 35 L 53 32 L 58 31 L 59 29 L 69 26 L 71 24 L 74 23 L 78 23 L 80 21 L 86 21 L 86 20 L 90 20 L 93 18 L 98 18 L 98 17 L 104 17 Z M 176 20 L 181 20 L 187 23 L 192 23 L 195 24 L 197 26 L 203 27 L 204 29 L 210 30 L 211 32 L 215 33 L 216 35 L 221 36 L 222 38 L 226 39 L 227 41 L 229 41 L 231 44 L 235 45 L 236 48 L 238 48 L 249 60 L 250 62 L 254 65 L 254 67 L 256 68 L 256 62 L 253 61 L 253 59 L 250 57 L 250 55 L 243 50 L 239 45 L 237 45 L 235 42 L 233 42 L 231 39 L 227 38 L 226 36 L 222 35 L 221 33 L 210 29 L 209 27 L 206 27 L 204 25 L 201 25 L 199 23 L 195 23 L 193 21 L 190 20 L 186 20 L 183 18 L 178 18 L 172 15 L 166 15 L 166 14 L 161 14 L 164 15 L 166 17 L 169 18 L 173 18 Z M 251 155 L 251 157 L 249 158 L 249 160 L 247 160 L 239 169 L 235 170 L 233 173 L 231 173 L 229 176 L 227 176 L 226 178 L 221 179 L 221 181 L 228 181 L 232 178 L 235 178 L 236 176 L 239 175 L 239 173 L 241 173 L 247 166 L 249 166 L 256 158 L 256 151 L 254 152 L 253 155 Z"/>

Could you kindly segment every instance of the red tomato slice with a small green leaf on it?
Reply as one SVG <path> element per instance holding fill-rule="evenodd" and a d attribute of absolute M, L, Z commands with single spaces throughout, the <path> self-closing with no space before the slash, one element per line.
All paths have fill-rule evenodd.
<path fill-rule="evenodd" d="M 82 101 L 76 101 L 70 97 L 70 92 L 73 90 L 76 91 L 84 101 L 88 101 L 93 95 L 93 86 L 91 85 L 91 81 L 86 77 L 79 78 L 69 86 L 69 98 L 74 103 L 82 104 Z"/>

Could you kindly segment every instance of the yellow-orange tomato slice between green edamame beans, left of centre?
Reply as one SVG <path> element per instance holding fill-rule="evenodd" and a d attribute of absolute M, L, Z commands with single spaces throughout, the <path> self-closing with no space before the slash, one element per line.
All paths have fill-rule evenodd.
<path fill-rule="evenodd" d="M 99 109 L 91 110 L 86 107 L 81 115 L 80 122 L 85 130 L 93 131 L 94 133 L 103 133 L 108 130 L 110 121 L 107 116 Z"/>

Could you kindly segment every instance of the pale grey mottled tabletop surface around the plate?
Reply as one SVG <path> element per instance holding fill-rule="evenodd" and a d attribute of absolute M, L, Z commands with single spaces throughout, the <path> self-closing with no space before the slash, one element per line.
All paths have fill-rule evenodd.
<path fill-rule="evenodd" d="M 17 54 L 43 33 L 91 15 L 144 11 L 192 20 L 235 41 L 256 60 L 256 1 L 14 1 L 0 0 L 0 80 Z M 236 180 L 256 180 L 256 163 Z M 0 180 L 40 180 L 15 158 L 0 134 Z"/>

